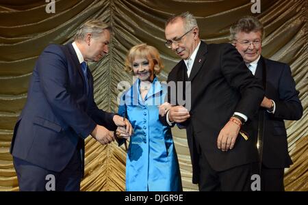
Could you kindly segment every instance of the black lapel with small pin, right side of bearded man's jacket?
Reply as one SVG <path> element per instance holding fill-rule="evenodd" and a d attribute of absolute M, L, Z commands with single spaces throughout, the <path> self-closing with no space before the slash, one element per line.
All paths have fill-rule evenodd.
<path fill-rule="evenodd" d="M 188 81 L 192 81 L 196 76 L 196 74 L 199 72 L 200 68 L 205 62 L 206 55 L 207 55 L 207 44 L 201 41 L 200 47 L 196 54 L 196 58 L 194 59 L 194 64 L 192 65 L 192 72 L 190 72 L 190 77 L 188 78 Z"/>

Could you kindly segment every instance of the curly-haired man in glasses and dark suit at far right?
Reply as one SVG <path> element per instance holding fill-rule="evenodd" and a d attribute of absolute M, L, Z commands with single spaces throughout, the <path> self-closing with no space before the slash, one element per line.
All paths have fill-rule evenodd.
<path fill-rule="evenodd" d="M 261 190 L 284 191 L 284 168 L 292 160 L 283 120 L 299 120 L 303 115 L 290 66 L 261 56 L 264 28 L 257 18 L 244 16 L 231 26 L 230 33 L 233 45 L 266 91 L 259 113 L 249 122 L 259 126 Z"/>

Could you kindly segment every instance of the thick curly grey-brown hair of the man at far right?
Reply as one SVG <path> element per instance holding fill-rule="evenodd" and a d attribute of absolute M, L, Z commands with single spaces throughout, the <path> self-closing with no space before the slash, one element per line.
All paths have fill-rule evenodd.
<path fill-rule="evenodd" d="M 261 38 L 264 36 L 264 27 L 259 19 L 255 16 L 244 16 L 240 18 L 230 27 L 229 40 L 231 43 L 236 41 L 236 34 L 240 32 L 250 33 L 250 32 L 261 32 Z"/>

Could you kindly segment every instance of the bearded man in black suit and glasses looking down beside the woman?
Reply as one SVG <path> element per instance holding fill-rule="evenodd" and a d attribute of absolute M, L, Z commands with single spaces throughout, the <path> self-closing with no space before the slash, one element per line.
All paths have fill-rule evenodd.
<path fill-rule="evenodd" d="M 264 91 L 247 72 L 242 57 L 231 44 L 206 44 L 198 36 L 196 19 L 189 12 L 172 16 L 165 27 L 166 46 L 182 60 L 168 74 L 176 82 L 168 101 L 172 106 L 162 123 L 185 126 L 192 160 L 192 182 L 200 191 L 248 191 L 255 139 L 239 135 L 240 126 L 257 111 Z M 190 84 L 191 93 L 178 82 Z M 185 87 L 185 86 L 184 86 Z M 188 111 L 176 93 L 191 98 Z M 186 107 L 189 107 L 186 105 Z M 248 137 L 248 138 L 247 138 Z"/>

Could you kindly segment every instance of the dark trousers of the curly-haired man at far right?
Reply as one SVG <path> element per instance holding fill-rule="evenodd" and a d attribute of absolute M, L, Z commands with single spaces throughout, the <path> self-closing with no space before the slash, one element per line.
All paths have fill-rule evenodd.
<path fill-rule="evenodd" d="M 283 185 L 284 168 L 261 167 L 261 191 L 285 191 Z"/>

